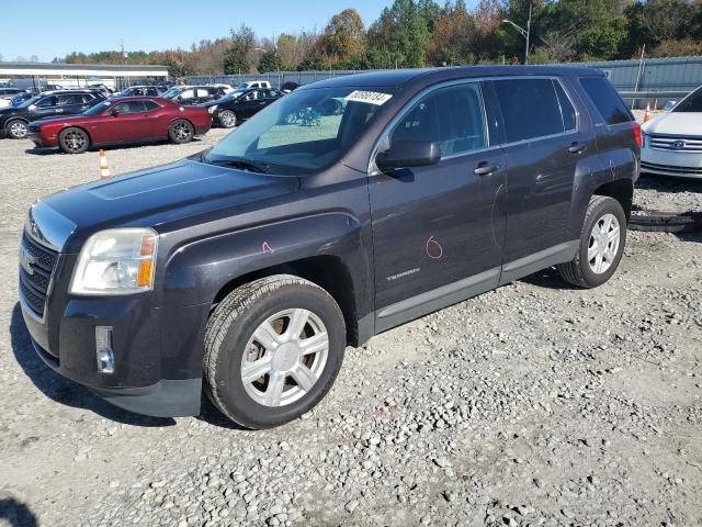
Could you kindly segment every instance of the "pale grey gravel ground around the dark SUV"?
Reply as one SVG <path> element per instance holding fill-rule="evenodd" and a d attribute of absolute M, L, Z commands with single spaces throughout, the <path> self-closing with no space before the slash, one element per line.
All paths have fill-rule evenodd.
<path fill-rule="evenodd" d="M 217 141 L 107 152 L 113 172 Z M 547 270 L 349 348 L 284 427 L 114 408 L 35 356 L 16 246 L 98 156 L 0 141 L 0 526 L 702 525 L 702 237 L 629 233 L 590 291 Z M 694 183 L 635 201 L 702 209 Z M 671 197 L 671 194 L 673 194 Z"/>

